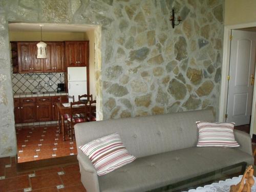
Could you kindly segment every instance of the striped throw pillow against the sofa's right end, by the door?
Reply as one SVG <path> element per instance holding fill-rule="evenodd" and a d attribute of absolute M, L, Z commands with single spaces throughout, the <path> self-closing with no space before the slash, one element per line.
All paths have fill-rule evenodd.
<path fill-rule="evenodd" d="M 209 123 L 197 121 L 198 143 L 197 146 L 240 146 L 234 139 L 234 123 Z"/>

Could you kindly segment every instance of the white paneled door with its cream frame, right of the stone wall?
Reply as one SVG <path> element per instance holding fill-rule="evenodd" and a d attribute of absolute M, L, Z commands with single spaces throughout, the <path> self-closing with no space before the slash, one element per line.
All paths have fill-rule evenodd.
<path fill-rule="evenodd" d="M 224 27 L 219 121 L 250 123 L 254 130 L 256 23 Z M 245 65 L 244 63 L 247 63 Z"/>

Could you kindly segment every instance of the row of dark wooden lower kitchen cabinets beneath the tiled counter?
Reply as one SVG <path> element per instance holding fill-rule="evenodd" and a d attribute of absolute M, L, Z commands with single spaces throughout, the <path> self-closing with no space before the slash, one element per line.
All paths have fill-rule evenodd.
<path fill-rule="evenodd" d="M 58 120 L 56 103 L 68 102 L 67 96 L 14 98 L 15 123 Z"/>

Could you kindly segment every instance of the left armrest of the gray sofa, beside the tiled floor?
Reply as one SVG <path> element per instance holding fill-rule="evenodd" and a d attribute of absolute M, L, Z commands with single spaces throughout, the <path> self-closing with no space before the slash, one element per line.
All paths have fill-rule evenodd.
<path fill-rule="evenodd" d="M 78 148 L 77 159 L 79 161 L 81 182 L 87 192 L 99 192 L 99 181 L 95 167 L 90 159 Z"/>

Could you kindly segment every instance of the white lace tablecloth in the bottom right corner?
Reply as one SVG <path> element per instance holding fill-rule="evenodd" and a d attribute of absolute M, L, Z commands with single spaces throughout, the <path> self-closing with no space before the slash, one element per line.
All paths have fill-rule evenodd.
<path fill-rule="evenodd" d="M 233 177 L 232 179 L 226 179 L 225 181 L 219 181 L 219 183 L 212 183 L 210 185 L 205 185 L 204 187 L 197 187 L 197 189 L 190 189 L 188 192 L 229 192 L 230 185 L 236 185 L 238 184 L 241 179 L 242 175 L 239 177 Z M 253 177 L 255 183 L 251 188 L 252 192 L 256 192 L 256 180 L 255 177 Z"/>

